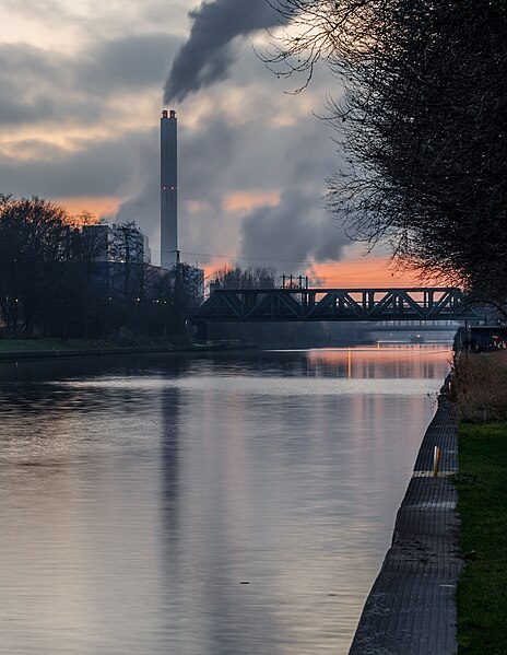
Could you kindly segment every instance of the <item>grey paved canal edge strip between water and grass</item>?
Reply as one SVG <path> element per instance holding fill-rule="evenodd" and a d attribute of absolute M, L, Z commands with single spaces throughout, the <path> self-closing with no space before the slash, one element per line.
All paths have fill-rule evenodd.
<path fill-rule="evenodd" d="M 366 599 L 349 655 L 452 655 L 458 652 L 458 426 L 447 383 L 423 437 L 398 511 L 392 543 Z M 438 477 L 434 448 L 440 448 Z"/>

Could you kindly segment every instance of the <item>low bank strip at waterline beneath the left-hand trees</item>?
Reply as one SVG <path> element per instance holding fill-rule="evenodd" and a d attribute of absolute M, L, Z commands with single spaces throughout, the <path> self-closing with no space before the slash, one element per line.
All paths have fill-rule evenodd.
<path fill-rule="evenodd" d="M 156 354 L 208 352 L 215 350 L 250 350 L 250 344 L 234 341 L 172 343 L 166 341 L 114 341 L 106 339 L 0 339 L 0 362 L 40 360 L 69 356 L 103 356 L 125 354 Z"/>

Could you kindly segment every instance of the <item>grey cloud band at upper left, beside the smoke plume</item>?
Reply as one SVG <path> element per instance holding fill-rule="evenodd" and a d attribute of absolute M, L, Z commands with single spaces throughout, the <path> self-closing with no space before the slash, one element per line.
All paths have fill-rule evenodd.
<path fill-rule="evenodd" d="M 0 125 L 63 119 L 91 125 L 110 112 L 118 92 L 157 86 L 178 44 L 161 33 L 94 43 L 76 55 L 2 44 Z"/>

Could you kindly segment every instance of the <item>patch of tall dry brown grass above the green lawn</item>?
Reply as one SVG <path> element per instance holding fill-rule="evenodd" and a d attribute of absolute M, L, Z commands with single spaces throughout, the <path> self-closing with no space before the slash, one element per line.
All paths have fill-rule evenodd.
<path fill-rule="evenodd" d="M 460 353 L 455 373 L 450 396 L 459 421 L 507 420 L 507 351 Z"/>

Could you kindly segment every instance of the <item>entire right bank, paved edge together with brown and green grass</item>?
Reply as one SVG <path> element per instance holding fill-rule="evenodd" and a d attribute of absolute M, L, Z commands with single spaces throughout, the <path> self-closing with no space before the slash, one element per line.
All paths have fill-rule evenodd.
<path fill-rule="evenodd" d="M 506 652 L 507 352 L 463 353 L 453 373 L 350 655 Z"/>

